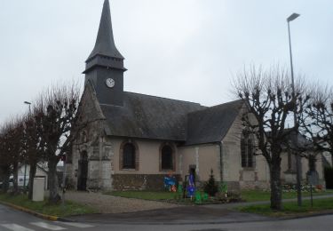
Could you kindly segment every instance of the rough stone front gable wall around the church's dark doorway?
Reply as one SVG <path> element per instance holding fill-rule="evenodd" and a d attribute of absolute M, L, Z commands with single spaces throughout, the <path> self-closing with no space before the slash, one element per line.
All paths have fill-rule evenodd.
<path fill-rule="evenodd" d="M 81 114 L 81 112 L 84 112 Z M 72 147 L 72 160 L 67 166 L 74 188 L 80 178 L 79 161 L 87 155 L 86 189 L 111 189 L 112 148 L 104 135 L 105 120 L 90 84 L 86 84 L 78 110 L 80 131 Z"/>

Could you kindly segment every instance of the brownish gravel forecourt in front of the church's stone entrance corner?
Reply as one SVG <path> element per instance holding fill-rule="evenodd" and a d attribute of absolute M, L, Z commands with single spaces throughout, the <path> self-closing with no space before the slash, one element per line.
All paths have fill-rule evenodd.
<path fill-rule="evenodd" d="M 121 213 L 130 211 L 150 211 L 178 207 L 178 204 L 154 202 L 92 192 L 67 191 L 66 200 L 87 204 L 100 213 Z"/>

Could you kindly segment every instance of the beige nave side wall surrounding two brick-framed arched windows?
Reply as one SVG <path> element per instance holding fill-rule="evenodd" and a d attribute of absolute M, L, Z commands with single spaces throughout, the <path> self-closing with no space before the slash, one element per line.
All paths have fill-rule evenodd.
<path fill-rule="evenodd" d="M 174 170 L 160 169 L 160 149 L 166 142 L 147 139 L 108 138 L 113 148 L 112 190 L 163 190 L 163 179 L 172 174 L 179 179 L 178 148 L 173 142 L 168 144 L 174 149 Z M 122 169 L 121 147 L 123 143 L 131 142 L 137 147 L 137 169 Z"/>

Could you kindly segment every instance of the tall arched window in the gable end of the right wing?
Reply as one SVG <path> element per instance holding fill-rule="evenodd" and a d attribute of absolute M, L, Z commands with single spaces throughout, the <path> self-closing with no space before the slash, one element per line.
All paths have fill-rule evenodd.
<path fill-rule="evenodd" d="M 254 142 L 248 131 L 242 132 L 241 139 L 242 168 L 253 168 L 255 163 Z"/>

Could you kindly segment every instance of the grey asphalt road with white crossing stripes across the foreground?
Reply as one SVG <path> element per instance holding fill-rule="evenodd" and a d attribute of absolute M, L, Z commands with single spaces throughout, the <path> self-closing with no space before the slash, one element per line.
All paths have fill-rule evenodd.
<path fill-rule="evenodd" d="M 260 231 L 260 230 L 332 230 L 333 215 L 311 217 L 306 219 L 266 220 L 258 222 L 230 222 L 224 224 L 163 224 L 163 225 L 140 225 L 140 224 L 103 224 L 103 223 L 67 223 L 57 221 L 45 221 L 34 216 L 14 211 L 11 208 L 0 205 L 0 230 L 1 231 L 47 231 L 47 230 L 81 230 L 81 231 L 104 231 L 104 230 L 172 230 L 172 231 Z"/>

